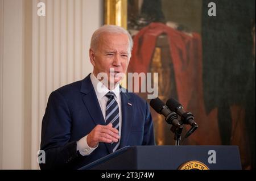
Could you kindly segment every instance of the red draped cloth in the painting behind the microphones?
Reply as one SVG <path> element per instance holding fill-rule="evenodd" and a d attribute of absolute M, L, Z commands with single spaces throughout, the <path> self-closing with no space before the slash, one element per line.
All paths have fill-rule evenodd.
<path fill-rule="evenodd" d="M 156 40 L 162 33 L 166 33 L 168 37 L 170 56 L 174 65 L 177 99 L 183 104 L 185 110 L 195 115 L 196 122 L 199 124 L 199 129 L 189 137 L 191 144 L 221 145 L 217 108 L 207 113 L 204 106 L 202 45 L 201 36 L 198 33 L 192 33 L 192 36 L 189 36 L 163 23 L 151 23 L 142 28 L 134 36 L 134 48 L 128 72 L 149 72 Z M 237 106 L 230 108 L 234 116 L 233 121 L 238 119 L 239 115 L 237 116 L 236 112 L 239 109 L 244 112 Z"/>

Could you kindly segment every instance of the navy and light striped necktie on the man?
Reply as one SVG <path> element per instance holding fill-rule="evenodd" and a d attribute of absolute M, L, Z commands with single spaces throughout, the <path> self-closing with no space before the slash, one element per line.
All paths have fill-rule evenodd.
<path fill-rule="evenodd" d="M 106 97 L 109 98 L 106 104 L 106 125 L 112 123 L 113 128 L 116 128 L 119 131 L 119 108 L 118 103 L 114 98 L 114 92 L 108 92 Z M 117 150 L 120 141 L 112 142 L 113 152 Z"/>

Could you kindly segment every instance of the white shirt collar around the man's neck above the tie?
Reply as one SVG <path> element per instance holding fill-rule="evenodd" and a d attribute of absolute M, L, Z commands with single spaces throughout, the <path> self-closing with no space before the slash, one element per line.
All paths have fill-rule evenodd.
<path fill-rule="evenodd" d="M 98 100 L 102 99 L 110 91 L 108 87 L 106 87 L 102 82 L 98 81 L 93 72 L 90 74 L 90 80 L 92 81 L 92 85 L 96 92 Z M 117 99 L 120 98 L 119 83 L 115 85 L 115 89 L 111 91 L 114 92 Z"/>

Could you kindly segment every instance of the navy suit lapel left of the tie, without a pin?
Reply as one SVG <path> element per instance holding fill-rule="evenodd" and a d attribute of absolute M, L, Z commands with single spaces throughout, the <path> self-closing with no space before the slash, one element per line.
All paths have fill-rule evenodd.
<path fill-rule="evenodd" d="M 90 81 L 90 74 L 84 80 L 82 80 L 81 92 L 85 94 L 82 97 L 82 100 L 84 101 L 85 107 L 87 108 L 95 125 L 105 125 L 106 122 L 102 115 L 100 103 L 98 102 L 96 93 L 93 89 L 92 82 Z M 108 148 L 109 153 L 112 153 L 112 146 L 108 143 L 104 144 L 106 148 Z"/>

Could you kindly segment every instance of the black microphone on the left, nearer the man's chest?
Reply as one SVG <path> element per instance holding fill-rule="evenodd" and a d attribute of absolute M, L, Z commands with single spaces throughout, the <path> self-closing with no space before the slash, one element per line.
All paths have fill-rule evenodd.
<path fill-rule="evenodd" d="M 175 127 L 179 128 L 179 131 L 182 131 L 183 127 L 177 120 L 177 114 L 169 110 L 169 108 L 160 100 L 159 98 L 151 99 L 150 106 L 159 114 L 166 117 L 166 122 L 172 124 Z"/>

